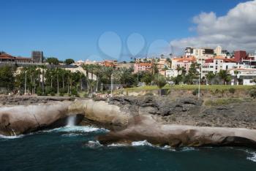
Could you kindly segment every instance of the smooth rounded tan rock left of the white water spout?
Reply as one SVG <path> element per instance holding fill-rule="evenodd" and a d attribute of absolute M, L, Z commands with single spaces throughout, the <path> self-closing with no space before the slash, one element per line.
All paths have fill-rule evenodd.
<path fill-rule="evenodd" d="M 50 104 L 31 104 L 0 107 L 0 134 L 26 134 L 64 121 L 72 113 L 72 102 L 51 102 Z M 64 126 L 62 123 L 62 126 Z M 56 125 L 57 126 L 57 125 Z"/>

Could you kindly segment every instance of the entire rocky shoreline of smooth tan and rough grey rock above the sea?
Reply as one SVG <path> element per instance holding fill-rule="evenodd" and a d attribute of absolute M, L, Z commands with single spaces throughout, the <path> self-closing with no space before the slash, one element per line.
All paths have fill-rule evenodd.
<path fill-rule="evenodd" d="M 57 126 L 69 115 L 82 115 L 80 125 L 110 129 L 97 137 L 106 145 L 148 140 L 173 147 L 256 147 L 255 100 L 206 105 L 205 100 L 192 97 L 116 96 L 109 102 L 58 98 L 28 98 L 23 105 L 17 104 L 17 99 L 4 99 L 3 104 L 0 98 L 0 134 L 33 132 Z"/>

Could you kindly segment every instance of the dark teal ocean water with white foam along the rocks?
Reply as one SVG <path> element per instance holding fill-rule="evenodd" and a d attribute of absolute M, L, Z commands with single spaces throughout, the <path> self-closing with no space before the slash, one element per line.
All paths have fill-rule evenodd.
<path fill-rule="evenodd" d="M 256 170 L 249 148 L 170 148 L 149 142 L 100 145 L 89 126 L 0 136 L 0 170 Z"/>

